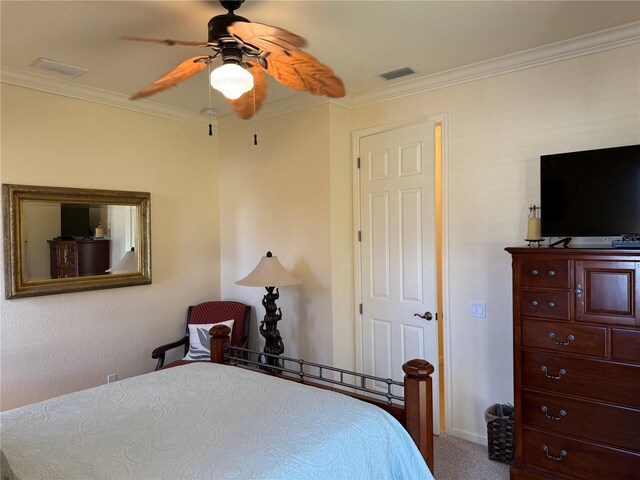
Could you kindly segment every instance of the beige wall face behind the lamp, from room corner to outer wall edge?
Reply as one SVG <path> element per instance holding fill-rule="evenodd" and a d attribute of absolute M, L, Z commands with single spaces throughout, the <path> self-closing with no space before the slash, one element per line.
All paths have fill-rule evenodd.
<path fill-rule="evenodd" d="M 278 328 L 285 355 L 332 360 L 330 106 L 220 128 L 221 294 L 254 306 L 258 319 L 264 289 L 240 287 L 271 251 L 303 280 L 283 287 Z M 250 344 L 262 337 L 251 324 Z"/>

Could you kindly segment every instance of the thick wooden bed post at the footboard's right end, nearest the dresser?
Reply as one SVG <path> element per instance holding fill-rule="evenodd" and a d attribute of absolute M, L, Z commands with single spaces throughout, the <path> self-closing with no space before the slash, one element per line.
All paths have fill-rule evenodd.
<path fill-rule="evenodd" d="M 402 366 L 404 408 L 407 431 L 433 473 L 433 400 L 431 374 L 433 365 L 426 360 L 409 360 Z"/>

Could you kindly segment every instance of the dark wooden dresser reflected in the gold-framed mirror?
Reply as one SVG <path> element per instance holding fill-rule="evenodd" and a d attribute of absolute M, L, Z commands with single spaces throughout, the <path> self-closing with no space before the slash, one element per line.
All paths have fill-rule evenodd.
<path fill-rule="evenodd" d="M 48 240 L 51 278 L 106 275 L 109 240 Z"/>

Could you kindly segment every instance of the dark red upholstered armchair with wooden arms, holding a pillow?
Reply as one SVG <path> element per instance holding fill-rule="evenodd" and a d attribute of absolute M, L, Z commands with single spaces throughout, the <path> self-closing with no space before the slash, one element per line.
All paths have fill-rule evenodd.
<path fill-rule="evenodd" d="M 151 358 L 158 359 L 156 370 L 175 367 L 197 361 L 209 361 L 209 328 L 205 325 L 224 323 L 231 328 L 231 344 L 246 348 L 249 341 L 249 314 L 251 307 L 239 302 L 215 301 L 192 305 L 187 312 L 187 331 L 184 337 L 156 348 Z M 203 328 L 198 328 L 202 326 Z M 165 354 L 174 348 L 183 347 L 185 357 L 164 364 Z"/>

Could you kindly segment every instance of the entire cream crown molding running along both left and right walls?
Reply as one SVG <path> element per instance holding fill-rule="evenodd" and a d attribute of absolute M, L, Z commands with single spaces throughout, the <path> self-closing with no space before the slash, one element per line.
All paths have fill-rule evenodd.
<path fill-rule="evenodd" d="M 633 22 L 542 47 L 435 73 L 433 75 L 407 79 L 367 92 L 349 95 L 341 99 L 326 99 L 325 97 L 315 97 L 311 95 L 292 95 L 282 100 L 265 104 L 258 114 L 257 119 L 260 120 L 328 102 L 353 109 L 637 43 L 640 43 L 640 22 Z M 3 67 L 0 70 L 0 82 L 101 103 L 103 105 L 147 115 L 155 115 L 198 126 L 208 123 L 208 120 L 199 113 L 161 105 L 148 100 L 132 102 L 126 95 L 70 83 L 13 67 Z M 218 126 L 217 124 L 221 119 L 224 119 L 222 122 L 224 127 L 246 122 L 236 119 L 234 115 L 230 114 L 218 119 L 214 118 L 213 121 L 216 123 L 214 125 L 215 127 Z"/>

